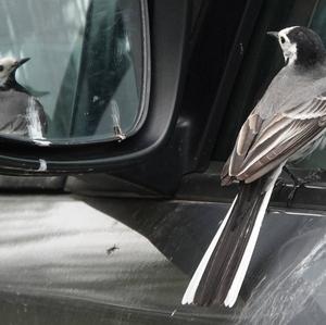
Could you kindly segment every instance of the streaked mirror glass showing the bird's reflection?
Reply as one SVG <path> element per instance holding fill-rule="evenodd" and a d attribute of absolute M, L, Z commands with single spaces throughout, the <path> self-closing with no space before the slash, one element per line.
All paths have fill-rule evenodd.
<path fill-rule="evenodd" d="M 145 2 L 0 0 L 0 135 L 123 140 L 145 117 Z"/>

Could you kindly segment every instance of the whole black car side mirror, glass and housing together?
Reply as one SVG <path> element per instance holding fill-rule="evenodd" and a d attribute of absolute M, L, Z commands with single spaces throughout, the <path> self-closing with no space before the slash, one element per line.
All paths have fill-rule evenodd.
<path fill-rule="evenodd" d="M 0 173 L 111 171 L 166 143 L 186 0 L 8 3 L 0 12 L 10 22 L 0 35 Z"/>

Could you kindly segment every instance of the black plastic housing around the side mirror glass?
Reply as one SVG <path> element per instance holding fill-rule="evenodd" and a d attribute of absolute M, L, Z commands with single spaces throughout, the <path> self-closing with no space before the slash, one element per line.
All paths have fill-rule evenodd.
<path fill-rule="evenodd" d="M 73 145 L 47 140 L 23 141 L 1 136 L 0 173 L 68 175 L 116 172 L 147 161 L 164 147 L 175 126 L 177 102 L 181 93 L 183 59 L 188 32 L 187 2 L 151 1 L 150 24 L 147 1 L 141 0 L 145 53 L 149 63 L 151 52 L 151 68 L 148 65 L 145 70 L 147 87 L 143 88 L 143 104 L 149 107 L 148 114 L 137 133 L 123 141 L 80 141 Z M 168 12 L 168 17 L 163 17 L 161 12 Z"/>

